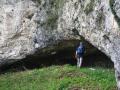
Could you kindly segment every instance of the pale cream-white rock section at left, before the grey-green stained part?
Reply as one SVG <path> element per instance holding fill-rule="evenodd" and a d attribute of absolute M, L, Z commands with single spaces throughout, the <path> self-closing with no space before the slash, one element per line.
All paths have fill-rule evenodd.
<path fill-rule="evenodd" d="M 32 1 L 0 0 L 0 64 L 34 52 L 37 8 Z M 14 59 L 14 60 L 12 60 Z"/>

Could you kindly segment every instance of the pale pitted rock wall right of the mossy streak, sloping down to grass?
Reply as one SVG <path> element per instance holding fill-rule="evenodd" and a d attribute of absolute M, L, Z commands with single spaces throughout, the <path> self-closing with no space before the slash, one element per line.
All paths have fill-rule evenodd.
<path fill-rule="evenodd" d="M 119 0 L 74 0 L 64 5 L 59 25 L 77 30 L 114 62 L 120 88 Z M 64 28 L 63 27 L 63 28 Z"/>

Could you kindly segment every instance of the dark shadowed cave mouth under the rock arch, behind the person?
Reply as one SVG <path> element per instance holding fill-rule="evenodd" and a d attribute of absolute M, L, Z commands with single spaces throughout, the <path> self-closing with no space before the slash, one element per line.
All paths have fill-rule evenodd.
<path fill-rule="evenodd" d="M 83 57 L 82 67 L 113 68 L 113 62 L 110 58 L 89 42 L 84 41 L 83 43 L 86 48 L 86 53 Z M 78 45 L 79 40 L 61 41 L 53 46 L 37 51 L 35 55 L 27 56 L 21 61 L 3 66 L 0 72 L 24 71 L 52 65 L 70 64 L 76 66 L 75 49 Z"/>

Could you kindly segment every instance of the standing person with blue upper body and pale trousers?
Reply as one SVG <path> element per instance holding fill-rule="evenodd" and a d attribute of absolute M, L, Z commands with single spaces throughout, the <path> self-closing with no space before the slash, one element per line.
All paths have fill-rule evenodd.
<path fill-rule="evenodd" d="M 81 67 L 83 55 L 85 52 L 85 47 L 82 42 L 80 42 L 79 46 L 76 49 L 76 58 L 77 58 L 77 67 Z"/>

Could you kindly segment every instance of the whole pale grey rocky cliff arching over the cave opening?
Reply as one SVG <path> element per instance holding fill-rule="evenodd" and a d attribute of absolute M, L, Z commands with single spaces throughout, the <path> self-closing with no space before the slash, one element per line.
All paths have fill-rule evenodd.
<path fill-rule="evenodd" d="M 120 88 L 119 0 L 0 0 L 0 65 L 83 36 L 114 62 Z"/>

